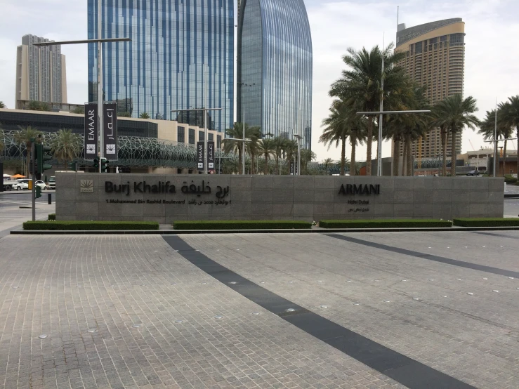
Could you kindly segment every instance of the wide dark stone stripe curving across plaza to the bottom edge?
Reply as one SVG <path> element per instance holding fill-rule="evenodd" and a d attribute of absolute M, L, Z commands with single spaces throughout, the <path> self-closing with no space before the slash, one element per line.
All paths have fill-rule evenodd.
<path fill-rule="evenodd" d="M 163 235 L 162 237 L 190 263 L 218 279 L 230 289 L 408 388 L 474 388 L 254 284 L 249 279 L 237 275 L 203 253 L 196 251 L 178 236 Z M 236 282 L 236 284 L 230 284 L 230 282 Z M 294 312 L 287 315 L 289 308 L 294 309 Z"/>

